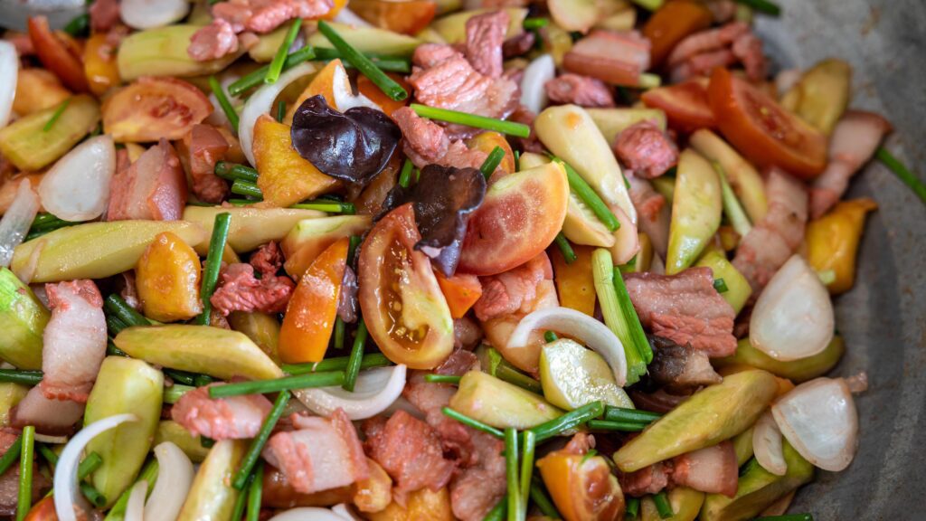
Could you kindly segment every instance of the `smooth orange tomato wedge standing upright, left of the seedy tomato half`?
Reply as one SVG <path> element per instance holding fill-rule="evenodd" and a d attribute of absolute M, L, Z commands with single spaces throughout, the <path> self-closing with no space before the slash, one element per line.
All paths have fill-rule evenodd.
<path fill-rule="evenodd" d="M 320 362 L 325 357 L 337 316 L 349 242 L 344 237 L 322 251 L 299 280 L 280 329 L 282 362 Z"/>

